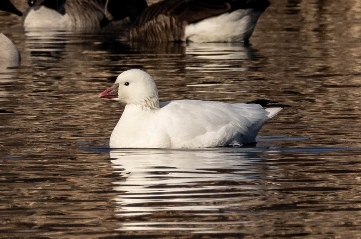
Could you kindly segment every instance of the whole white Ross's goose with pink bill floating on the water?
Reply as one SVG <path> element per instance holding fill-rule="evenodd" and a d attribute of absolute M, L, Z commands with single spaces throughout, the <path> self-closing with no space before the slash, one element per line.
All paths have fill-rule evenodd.
<path fill-rule="evenodd" d="M 116 148 L 209 148 L 255 142 L 263 124 L 286 105 L 268 100 L 223 103 L 158 101 L 153 78 L 139 69 L 121 73 L 99 97 L 126 104 L 110 136 Z"/>

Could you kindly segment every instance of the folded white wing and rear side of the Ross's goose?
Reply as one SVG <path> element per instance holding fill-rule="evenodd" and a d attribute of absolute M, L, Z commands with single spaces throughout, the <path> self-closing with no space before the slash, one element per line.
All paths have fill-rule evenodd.
<path fill-rule="evenodd" d="M 254 142 L 270 114 L 257 103 L 181 100 L 161 103 L 158 123 L 175 148 L 213 147 Z"/>

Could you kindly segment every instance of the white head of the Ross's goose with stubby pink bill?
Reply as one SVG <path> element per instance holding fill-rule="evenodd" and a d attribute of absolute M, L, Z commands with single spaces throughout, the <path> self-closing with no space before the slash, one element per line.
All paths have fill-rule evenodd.
<path fill-rule="evenodd" d="M 121 73 L 113 86 L 99 94 L 142 109 L 159 108 L 158 90 L 153 78 L 139 69 Z"/>

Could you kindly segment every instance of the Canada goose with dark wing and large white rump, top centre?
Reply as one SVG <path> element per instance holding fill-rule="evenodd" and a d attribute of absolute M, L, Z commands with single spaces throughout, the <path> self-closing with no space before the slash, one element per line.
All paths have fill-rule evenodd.
<path fill-rule="evenodd" d="M 163 0 L 132 24 L 132 41 L 248 42 L 268 0 Z"/>

